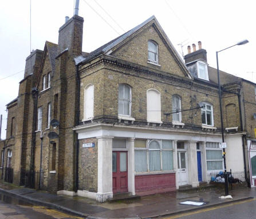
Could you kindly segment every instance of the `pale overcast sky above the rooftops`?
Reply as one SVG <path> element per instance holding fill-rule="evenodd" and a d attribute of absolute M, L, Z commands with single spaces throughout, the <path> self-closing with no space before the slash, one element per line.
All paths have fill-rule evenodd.
<path fill-rule="evenodd" d="M 46 40 L 58 42 L 58 29 L 64 24 L 65 16 L 73 16 L 73 6 L 73 0 L 31 0 L 32 49 L 43 50 Z M 248 39 L 249 43 L 243 46 L 221 52 L 219 67 L 256 82 L 254 1 L 80 0 L 79 15 L 84 18 L 82 51 L 86 52 L 102 46 L 152 15 L 156 16 L 180 54 L 180 43 L 184 44 L 186 55 L 188 45 L 195 43 L 197 46 L 197 42 L 202 41 L 202 47 L 207 50 L 208 64 L 213 67 L 216 67 L 216 51 Z M 0 43 L 0 114 L 3 115 L 1 137 L 4 139 L 6 104 L 18 95 L 25 59 L 30 54 L 30 0 L 1 1 Z"/>

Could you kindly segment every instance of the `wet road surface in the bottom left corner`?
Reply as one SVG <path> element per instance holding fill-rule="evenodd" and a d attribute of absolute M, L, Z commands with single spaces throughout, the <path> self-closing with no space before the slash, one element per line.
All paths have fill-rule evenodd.
<path fill-rule="evenodd" d="M 0 193 L 0 219 L 66 219 L 82 218 L 71 214 L 46 208 L 44 206 L 32 205 L 29 202 L 18 200 L 11 196 Z"/>

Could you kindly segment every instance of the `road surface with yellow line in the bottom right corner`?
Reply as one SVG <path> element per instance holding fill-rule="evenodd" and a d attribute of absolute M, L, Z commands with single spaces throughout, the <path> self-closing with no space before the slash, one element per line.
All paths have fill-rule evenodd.
<path fill-rule="evenodd" d="M 174 216 L 162 217 L 165 219 L 255 219 L 256 218 L 256 198 L 223 204 L 219 206 L 195 210 L 177 214 Z"/>

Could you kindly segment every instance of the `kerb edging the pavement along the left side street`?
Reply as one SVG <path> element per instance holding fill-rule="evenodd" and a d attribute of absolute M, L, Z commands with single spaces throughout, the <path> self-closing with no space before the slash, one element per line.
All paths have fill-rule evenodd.
<path fill-rule="evenodd" d="M 18 197 L 19 199 L 30 202 L 32 204 L 36 203 L 36 204 L 44 205 L 46 207 L 54 208 L 54 209 L 57 209 L 57 210 L 63 210 L 64 212 L 76 214 L 77 216 L 82 216 L 82 217 L 88 217 L 89 216 L 89 214 L 85 214 L 85 213 L 82 213 L 82 212 L 77 212 L 76 210 L 72 210 L 70 208 L 66 208 L 66 207 L 61 206 L 61 205 L 53 204 L 53 203 L 48 202 L 48 201 L 41 201 L 41 200 L 37 200 L 35 198 L 22 196 L 21 194 L 10 192 L 9 190 L 5 190 L 5 189 L 2 189 L 2 188 L 0 188 L 0 191 L 3 192 L 3 193 L 9 194 L 9 195 L 11 194 L 12 196 Z"/>

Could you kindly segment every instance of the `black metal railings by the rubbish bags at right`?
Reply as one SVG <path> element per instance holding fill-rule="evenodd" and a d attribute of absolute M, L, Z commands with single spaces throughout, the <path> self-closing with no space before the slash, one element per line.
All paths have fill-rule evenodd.
<path fill-rule="evenodd" d="M 210 176 L 211 176 L 212 182 L 223 182 L 223 183 L 225 182 L 224 172 L 222 171 L 211 172 Z M 229 184 L 242 183 L 247 181 L 245 177 L 245 171 L 232 172 L 230 169 L 230 172 L 227 172 L 227 176 L 228 176 Z M 247 176 L 248 176 L 248 173 L 247 173 Z"/>

